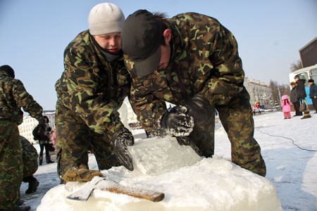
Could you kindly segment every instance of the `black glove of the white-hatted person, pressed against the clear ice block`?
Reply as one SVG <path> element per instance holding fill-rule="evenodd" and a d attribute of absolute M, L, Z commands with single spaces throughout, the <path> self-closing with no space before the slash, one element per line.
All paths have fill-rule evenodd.
<path fill-rule="evenodd" d="M 130 171 L 133 171 L 132 158 L 128 153 L 127 146 L 135 144 L 131 132 L 125 127 L 120 127 L 112 136 L 111 144 L 113 151 L 120 163 Z"/>

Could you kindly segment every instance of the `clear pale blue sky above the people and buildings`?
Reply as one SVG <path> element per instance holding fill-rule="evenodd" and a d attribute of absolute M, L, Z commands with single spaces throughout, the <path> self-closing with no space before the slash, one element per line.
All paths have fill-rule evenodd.
<path fill-rule="evenodd" d="M 63 51 L 88 28 L 90 9 L 106 1 L 0 0 L 0 65 L 11 65 L 44 110 L 54 110 L 54 84 L 63 72 Z M 125 17 L 138 9 L 172 17 L 197 12 L 217 18 L 236 37 L 246 76 L 288 84 L 299 49 L 317 37 L 316 0 L 108 1 Z"/>

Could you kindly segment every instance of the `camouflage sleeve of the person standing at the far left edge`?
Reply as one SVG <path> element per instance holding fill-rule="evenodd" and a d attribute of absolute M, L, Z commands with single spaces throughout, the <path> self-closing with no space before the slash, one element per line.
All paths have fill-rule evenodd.
<path fill-rule="evenodd" d="M 39 103 L 33 99 L 33 97 L 27 93 L 23 83 L 20 80 L 16 80 L 16 83 L 13 86 L 13 97 L 17 106 L 23 108 L 25 112 L 30 113 L 30 116 L 41 120 L 43 118 L 43 108 L 39 106 Z"/>

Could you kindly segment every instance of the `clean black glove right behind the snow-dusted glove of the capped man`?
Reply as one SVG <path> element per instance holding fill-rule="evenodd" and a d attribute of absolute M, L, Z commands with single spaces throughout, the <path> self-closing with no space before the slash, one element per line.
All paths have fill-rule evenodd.
<path fill-rule="evenodd" d="M 199 94 L 195 94 L 191 101 L 182 106 L 182 110 L 184 110 L 185 114 L 194 117 L 194 124 L 208 120 L 210 118 L 209 111 L 211 109 L 213 108 L 209 101 Z"/>

